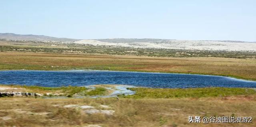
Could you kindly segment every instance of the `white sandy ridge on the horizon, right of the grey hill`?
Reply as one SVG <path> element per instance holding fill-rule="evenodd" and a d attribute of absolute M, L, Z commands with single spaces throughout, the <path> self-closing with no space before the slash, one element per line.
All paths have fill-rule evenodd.
<path fill-rule="evenodd" d="M 229 42 L 229 41 L 188 41 L 168 40 L 164 42 L 132 42 L 113 43 L 96 40 L 80 40 L 74 43 L 94 46 L 120 46 L 132 48 L 156 48 L 156 49 L 187 49 L 187 50 L 222 50 L 222 51 L 256 51 L 256 43 L 253 42 Z"/>

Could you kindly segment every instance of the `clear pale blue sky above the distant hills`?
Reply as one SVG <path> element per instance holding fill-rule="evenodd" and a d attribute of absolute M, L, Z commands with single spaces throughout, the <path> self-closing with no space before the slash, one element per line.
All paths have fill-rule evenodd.
<path fill-rule="evenodd" d="M 256 0 L 0 0 L 0 33 L 256 41 Z"/>

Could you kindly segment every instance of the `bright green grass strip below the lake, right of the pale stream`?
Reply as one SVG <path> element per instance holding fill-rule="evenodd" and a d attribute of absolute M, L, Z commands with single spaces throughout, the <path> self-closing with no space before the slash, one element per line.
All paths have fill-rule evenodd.
<path fill-rule="evenodd" d="M 136 91 L 134 95 L 123 98 L 202 98 L 235 95 L 256 95 L 252 88 L 129 88 Z"/>

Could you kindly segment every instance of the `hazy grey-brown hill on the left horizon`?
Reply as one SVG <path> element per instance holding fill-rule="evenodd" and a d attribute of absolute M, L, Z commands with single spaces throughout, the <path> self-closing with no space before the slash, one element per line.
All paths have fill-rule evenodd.
<path fill-rule="evenodd" d="M 0 33 L 0 39 L 28 40 L 28 41 L 78 41 L 79 39 L 58 38 L 44 35 L 21 35 L 15 33 Z"/>

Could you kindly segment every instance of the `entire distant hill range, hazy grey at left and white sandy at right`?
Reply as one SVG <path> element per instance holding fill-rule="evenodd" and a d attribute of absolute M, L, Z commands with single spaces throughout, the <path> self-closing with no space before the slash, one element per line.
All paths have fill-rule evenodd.
<path fill-rule="evenodd" d="M 131 47 L 144 49 L 186 49 L 186 50 L 222 50 L 222 51 L 256 51 L 255 42 L 246 41 L 212 41 L 212 40 L 176 40 L 176 39 L 69 39 L 44 35 L 19 35 L 0 33 L 0 39 L 28 41 L 58 41 L 82 45 Z"/>

